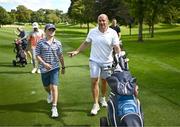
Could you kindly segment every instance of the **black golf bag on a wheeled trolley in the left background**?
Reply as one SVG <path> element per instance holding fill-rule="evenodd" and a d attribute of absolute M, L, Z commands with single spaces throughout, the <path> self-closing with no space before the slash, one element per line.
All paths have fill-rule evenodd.
<path fill-rule="evenodd" d="M 15 40 L 14 44 L 14 52 L 16 53 L 16 59 L 12 61 L 13 66 L 22 66 L 25 67 L 27 64 L 26 60 L 26 53 L 24 51 L 24 47 L 26 44 L 24 44 L 24 41 L 21 40 Z"/>

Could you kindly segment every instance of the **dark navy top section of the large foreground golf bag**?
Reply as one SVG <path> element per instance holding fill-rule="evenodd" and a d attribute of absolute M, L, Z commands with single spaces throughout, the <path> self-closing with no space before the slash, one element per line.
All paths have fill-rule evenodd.
<path fill-rule="evenodd" d="M 119 95 L 134 95 L 136 78 L 129 71 L 119 71 L 107 78 L 112 92 Z"/>

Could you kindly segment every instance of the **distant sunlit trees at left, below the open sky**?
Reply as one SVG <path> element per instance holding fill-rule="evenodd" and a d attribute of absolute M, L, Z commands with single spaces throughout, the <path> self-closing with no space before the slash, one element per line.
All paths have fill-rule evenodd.
<path fill-rule="evenodd" d="M 58 9 L 39 9 L 37 11 L 32 11 L 24 5 L 19 5 L 16 9 L 11 9 L 10 12 L 7 12 L 0 6 L 0 25 L 32 22 L 57 24 L 64 20 L 66 20 L 65 14 Z"/>

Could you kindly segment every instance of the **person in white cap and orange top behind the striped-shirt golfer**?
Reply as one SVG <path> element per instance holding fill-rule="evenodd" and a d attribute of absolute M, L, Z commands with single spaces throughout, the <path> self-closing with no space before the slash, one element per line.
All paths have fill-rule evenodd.
<path fill-rule="evenodd" d="M 31 71 L 31 73 L 40 73 L 40 70 L 38 68 L 38 62 L 36 60 L 36 56 L 35 56 L 35 49 L 36 49 L 36 45 L 37 42 L 39 40 L 41 40 L 42 38 L 44 38 L 44 31 L 39 29 L 39 25 L 37 22 L 34 22 L 32 24 L 32 28 L 33 31 L 30 32 L 29 36 L 28 36 L 28 44 L 29 44 L 29 50 L 31 51 L 32 54 L 32 62 L 33 62 L 33 69 Z"/>

